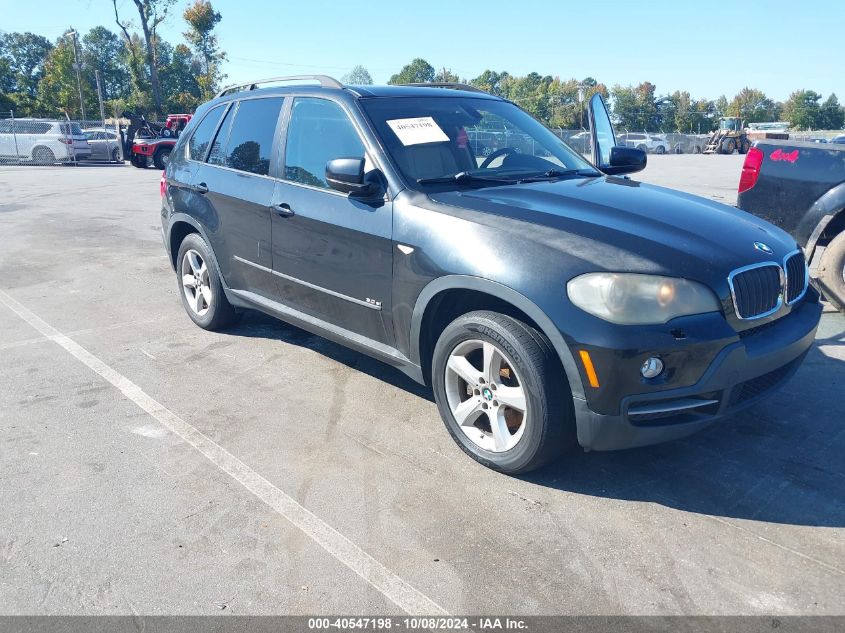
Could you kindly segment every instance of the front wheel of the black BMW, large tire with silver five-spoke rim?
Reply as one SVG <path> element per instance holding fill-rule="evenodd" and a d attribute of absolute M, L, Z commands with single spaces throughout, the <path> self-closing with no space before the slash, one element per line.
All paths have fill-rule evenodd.
<path fill-rule="evenodd" d="M 446 428 L 470 457 L 503 473 L 539 468 L 574 444 L 565 384 L 548 339 L 497 312 L 458 317 L 434 348 L 432 385 Z"/>

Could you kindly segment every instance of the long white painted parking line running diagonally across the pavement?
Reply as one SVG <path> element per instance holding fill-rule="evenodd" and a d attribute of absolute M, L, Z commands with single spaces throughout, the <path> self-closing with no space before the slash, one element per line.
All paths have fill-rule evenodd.
<path fill-rule="evenodd" d="M 126 376 L 59 332 L 38 315 L 0 290 L 0 301 L 44 338 L 114 385 L 138 407 L 202 453 L 217 468 L 299 528 L 320 547 L 367 581 L 388 600 L 411 615 L 447 615 L 447 611 L 389 570 L 293 497 L 274 486 L 225 448 L 156 401 Z"/>

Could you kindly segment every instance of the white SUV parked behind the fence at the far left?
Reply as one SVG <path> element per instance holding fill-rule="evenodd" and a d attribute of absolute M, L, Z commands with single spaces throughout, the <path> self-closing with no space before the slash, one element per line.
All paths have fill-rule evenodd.
<path fill-rule="evenodd" d="M 0 157 L 39 165 L 85 160 L 91 147 L 82 128 L 71 121 L 3 119 L 0 121 Z"/>

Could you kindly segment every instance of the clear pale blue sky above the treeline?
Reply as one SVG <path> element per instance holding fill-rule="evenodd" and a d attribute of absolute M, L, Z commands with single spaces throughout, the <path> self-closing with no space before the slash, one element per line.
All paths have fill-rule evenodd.
<path fill-rule="evenodd" d="M 176 8 L 161 29 L 182 39 Z M 212 0 L 228 54 L 225 83 L 291 74 L 340 78 L 354 65 L 386 83 L 415 57 L 471 79 L 485 69 L 594 77 L 613 86 L 651 81 L 657 94 L 729 99 L 759 88 L 845 99 L 843 0 Z M 38 9 L 33 10 L 33 5 Z M 118 0 L 122 16 L 135 11 Z M 137 14 L 136 14 L 137 18 Z M 0 0 L 0 31 L 54 40 L 69 26 L 117 31 L 111 0 Z"/>

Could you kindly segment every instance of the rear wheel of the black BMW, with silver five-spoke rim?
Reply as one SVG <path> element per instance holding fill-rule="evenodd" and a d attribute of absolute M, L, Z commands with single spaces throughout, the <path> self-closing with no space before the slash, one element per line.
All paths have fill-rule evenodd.
<path fill-rule="evenodd" d="M 176 280 L 185 312 L 201 328 L 220 330 L 235 322 L 237 313 L 223 291 L 211 249 L 198 233 L 179 246 Z"/>

